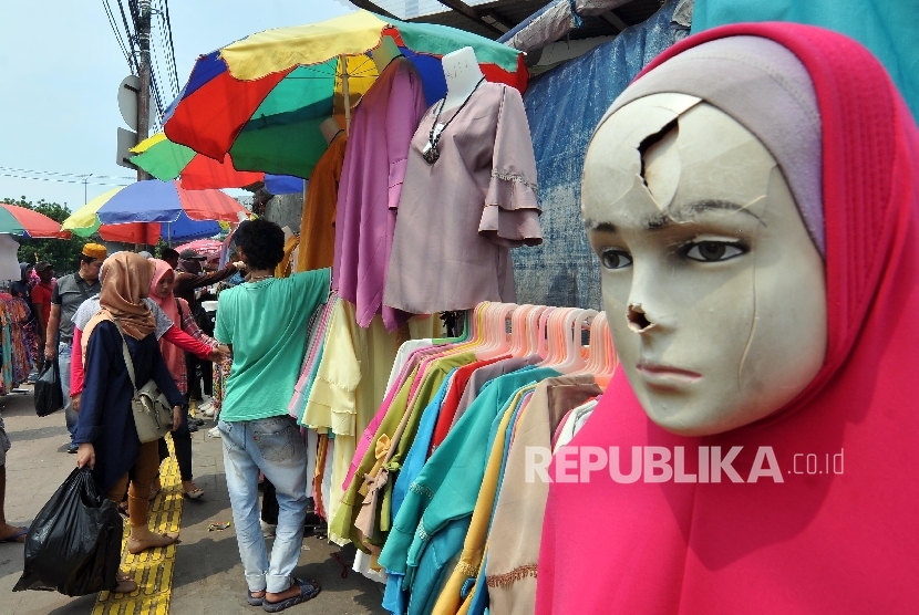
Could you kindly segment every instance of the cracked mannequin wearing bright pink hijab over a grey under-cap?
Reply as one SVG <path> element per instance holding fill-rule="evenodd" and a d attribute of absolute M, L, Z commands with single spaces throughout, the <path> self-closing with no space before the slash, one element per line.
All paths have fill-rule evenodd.
<path fill-rule="evenodd" d="M 620 202 L 591 150 L 615 149 L 607 126 L 662 93 L 646 112 L 679 118 L 636 145 L 631 194 L 646 205 Z M 694 152 L 692 138 L 736 131 L 693 133 L 692 98 L 754 138 L 710 159 Z M 775 164 L 765 197 L 732 199 L 723 188 L 754 150 Z M 880 63 L 814 27 L 691 37 L 613 103 L 588 150 L 584 210 L 622 369 L 548 468 L 536 613 L 916 612 L 917 168 L 919 132 Z M 770 218 L 773 198 L 793 198 L 799 216 Z M 737 225 L 706 226 L 729 211 Z M 802 237 L 810 248 L 788 262 Z M 680 275 L 646 284 L 655 268 Z M 809 285 L 788 283 L 806 275 Z M 762 292 L 763 277 L 785 291 Z M 729 290 L 735 300 L 709 302 Z M 771 329 L 777 319 L 787 326 Z M 740 367 L 713 371 L 717 351 L 737 345 Z M 684 411 L 719 378 L 724 395 Z M 744 390 L 751 382 L 762 386 Z"/>

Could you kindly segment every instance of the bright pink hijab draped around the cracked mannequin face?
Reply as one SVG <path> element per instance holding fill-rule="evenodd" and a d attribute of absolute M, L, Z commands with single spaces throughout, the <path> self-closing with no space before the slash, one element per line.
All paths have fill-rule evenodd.
<path fill-rule="evenodd" d="M 686 472 L 700 446 L 723 455 L 742 446 L 732 466 L 744 479 L 757 449 L 772 447 L 784 482 L 627 484 L 602 471 L 553 483 L 539 615 L 911 613 L 919 604 L 919 131 L 880 63 L 819 28 L 710 30 L 642 74 L 732 35 L 791 50 L 817 95 L 826 361 L 771 419 L 706 438 L 652 424 L 620 371 L 571 446 L 620 447 L 623 472 L 633 446 L 682 446 Z"/>

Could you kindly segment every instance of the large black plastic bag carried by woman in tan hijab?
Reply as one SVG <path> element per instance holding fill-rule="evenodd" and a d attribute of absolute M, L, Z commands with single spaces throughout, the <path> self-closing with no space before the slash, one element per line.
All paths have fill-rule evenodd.
<path fill-rule="evenodd" d="M 115 502 L 99 494 L 89 467 L 73 470 L 25 534 L 25 566 L 13 592 L 114 590 L 123 530 Z"/>

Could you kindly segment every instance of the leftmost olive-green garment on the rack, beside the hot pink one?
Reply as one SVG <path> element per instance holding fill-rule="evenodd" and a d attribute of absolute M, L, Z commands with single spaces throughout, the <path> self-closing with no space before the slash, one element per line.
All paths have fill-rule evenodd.
<path fill-rule="evenodd" d="M 342 496 L 341 507 L 329 525 L 329 531 L 331 533 L 349 539 L 359 549 L 366 550 L 365 539 L 357 530 L 357 528 L 354 528 L 354 520 L 358 518 L 358 514 L 361 511 L 361 505 L 364 501 L 363 494 L 360 493 L 360 488 L 364 482 L 363 477 L 371 471 L 373 466 L 376 463 L 376 442 L 380 440 L 380 437 L 384 435 L 386 438 L 392 438 L 399 428 L 399 424 L 405 416 L 405 413 L 411 413 L 409 415 L 409 423 L 405 426 L 403 437 L 400 438 L 397 442 L 392 444 L 392 446 L 396 447 L 396 450 L 392 456 L 391 462 L 388 463 L 388 467 L 393 462 L 401 463 L 401 460 L 405 458 L 405 454 L 409 451 L 409 447 L 411 447 L 412 440 L 414 440 L 414 434 L 417 430 L 421 413 L 431 402 L 431 397 L 433 397 L 433 395 L 437 392 L 437 388 L 441 386 L 451 369 L 466 365 L 473 361 L 475 361 L 475 355 L 473 353 L 461 353 L 432 362 L 425 374 L 422 375 L 422 383 L 415 393 L 411 407 L 409 407 L 409 394 L 412 390 L 412 383 L 417 377 L 417 368 L 412 371 L 411 376 L 405 379 L 402 387 L 399 389 L 399 393 L 390 404 L 390 407 L 383 417 L 383 421 L 380 424 L 380 427 L 376 429 L 376 434 L 373 436 L 373 441 L 370 447 L 368 447 L 363 459 L 361 459 L 360 466 L 358 466 L 358 470 L 354 472 L 354 478 L 351 480 L 351 484 L 348 486 L 348 491 L 345 491 L 344 496 Z M 404 436 L 411 437 L 405 438 Z M 390 483 L 394 483 L 394 481 L 395 477 L 391 476 Z M 392 497 L 391 486 L 384 492 L 384 499 L 386 498 L 386 493 L 390 494 L 390 498 Z M 373 542 L 375 543 L 379 541 L 374 540 Z"/>

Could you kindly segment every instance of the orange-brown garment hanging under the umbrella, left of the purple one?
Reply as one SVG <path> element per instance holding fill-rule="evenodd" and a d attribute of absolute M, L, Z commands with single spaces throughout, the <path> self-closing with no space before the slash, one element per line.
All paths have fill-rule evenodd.
<path fill-rule="evenodd" d="M 297 271 L 332 267 L 335 257 L 335 202 L 347 144 L 348 137 L 342 131 L 332 138 L 310 175 L 300 217 Z"/>

